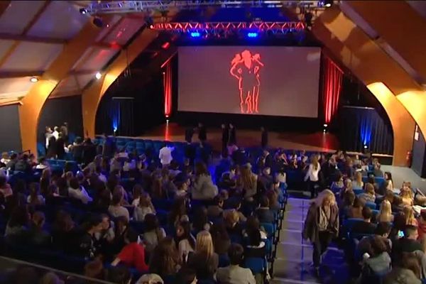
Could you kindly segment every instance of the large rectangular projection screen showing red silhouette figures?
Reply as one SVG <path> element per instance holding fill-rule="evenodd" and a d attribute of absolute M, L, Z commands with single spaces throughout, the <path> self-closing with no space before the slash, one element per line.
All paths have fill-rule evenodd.
<path fill-rule="evenodd" d="M 320 58 L 312 47 L 180 47 L 178 110 L 316 118 Z"/>

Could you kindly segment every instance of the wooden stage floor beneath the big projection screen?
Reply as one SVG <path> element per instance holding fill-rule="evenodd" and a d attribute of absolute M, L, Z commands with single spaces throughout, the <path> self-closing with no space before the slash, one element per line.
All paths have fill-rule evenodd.
<path fill-rule="evenodd" d="M 175 123 L 163 124 L 155 127 L 140 138 L 166 141 L 185 141 L 185 128 Z M 270 131 L 268 135 L 269 146 L 306 151 L 331 152 L 339 148 L 337 137 L 331 133 L 287 133 Z M 197 133 L 192 138 L 197 141 Z M 222 130 L 207 129 L 207 142 L 212 144 L 214 150 L 220 151 L 222 147 Z M 261 131 L 236 129 L 236 143 L 238 146 L 249 147 L 261 144 Z"/>

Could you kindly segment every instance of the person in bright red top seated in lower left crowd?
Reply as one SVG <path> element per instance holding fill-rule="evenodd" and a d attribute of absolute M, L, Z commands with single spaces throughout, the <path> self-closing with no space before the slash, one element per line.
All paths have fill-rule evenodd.
<path fill-rule="evenodd" d="M 146 273 L 148 265 L 145 262 L 145 248 L 138 244 L 138 235 L 129 231 L 126 236 L 126 243 L 126 246 L 121 249 L 111 266 L 122 263 L 129 268 L 136 268 L 139 272 Z"/>

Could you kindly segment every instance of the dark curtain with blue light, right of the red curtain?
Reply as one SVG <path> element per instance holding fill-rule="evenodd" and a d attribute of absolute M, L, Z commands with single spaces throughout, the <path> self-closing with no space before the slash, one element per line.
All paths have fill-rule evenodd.
<path fill-rule="evenodd" d="M 392 155 L 391 125 L 376 109 L 345 106 L 339 113 L 339 140 L 344 150 Z"/>

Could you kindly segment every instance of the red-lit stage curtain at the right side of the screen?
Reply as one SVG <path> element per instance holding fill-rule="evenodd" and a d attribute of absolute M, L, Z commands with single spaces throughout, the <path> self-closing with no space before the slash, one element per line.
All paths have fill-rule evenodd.
<path fill-rule="evenodd" d="M 329 124 L 339 107 L 342 90 L 343 71 L 327 56 L 323 55 L 322 100 L 324 103 L 324 123 Z"/>

